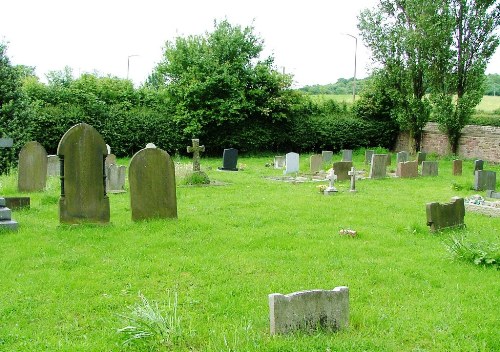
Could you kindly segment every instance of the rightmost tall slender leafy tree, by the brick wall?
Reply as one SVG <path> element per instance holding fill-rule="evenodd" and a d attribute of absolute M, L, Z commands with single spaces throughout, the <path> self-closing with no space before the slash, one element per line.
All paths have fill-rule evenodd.
<path fill-rule="evenodd" d="M 445 42 L 431 65 L 435 116 L 456 153 L 462 128 L 484 94 L 484 72 L 499 45 L 497 0 L 449 0 L 441 14 L 446 23 Z"/>

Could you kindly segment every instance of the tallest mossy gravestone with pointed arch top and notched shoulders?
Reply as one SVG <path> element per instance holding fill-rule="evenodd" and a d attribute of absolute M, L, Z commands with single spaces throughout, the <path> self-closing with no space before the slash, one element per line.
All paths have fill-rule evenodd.
<path fill-rule="evenodd" d="M 86 123 L 71 127 L 61 138 L 57 147 L 61 160 L 61 223 L 109 222 L 104 170 L 107 154 L 102 136 Z"/>

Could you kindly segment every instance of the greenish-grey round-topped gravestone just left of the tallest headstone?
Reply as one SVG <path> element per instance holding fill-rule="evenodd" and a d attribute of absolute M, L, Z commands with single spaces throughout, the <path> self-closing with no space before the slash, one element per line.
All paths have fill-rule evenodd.
<path fill-rule="evenodd" d="M 28 142 L 19 152 L 19 192 L 39 192 L 47 184 L 47 152 L 38 142 Z"/>

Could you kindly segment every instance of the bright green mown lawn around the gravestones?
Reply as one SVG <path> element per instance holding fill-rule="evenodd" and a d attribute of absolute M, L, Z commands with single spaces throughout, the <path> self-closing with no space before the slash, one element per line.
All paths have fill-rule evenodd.
<path fill-rule="evenodd" d="M 0 351 L 500 350 L 500 272 L 446 246 L 500 243 L 500 218 L 467 213 L 466 229 L 437 235 L 426 226 L 427 202 L 475 193 L 471 161 L 461 177 L 441 160 L 438 177 L 359 180 L 356 194 L 339 182 L 323 196 L 318 183 L 266 179 L 282 174 L 270 160 L 243 156 L 244 171 L 218 172 L 220 159 L 202 158 L 225 185 L 179 185 L 177 220 L 132 222 L 126 193 L 110 195 L 109 225 L 61 226 L 57 180 L 29 194 L 31 209 L 13 212 L 19 231 L 0 233 Z M 17 194 L 15 175 L 0 183 Z M 341 285 L 347 330 L 269 335 L 270 293 Z M 131 307 L 147 297 L 162 311 L 173 293 L 175 339 L 124 345 Z"/>

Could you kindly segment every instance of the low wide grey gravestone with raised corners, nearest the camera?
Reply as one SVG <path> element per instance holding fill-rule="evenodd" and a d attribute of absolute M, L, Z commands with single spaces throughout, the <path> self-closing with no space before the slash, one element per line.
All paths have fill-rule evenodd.
<path fill-rule="evenodd" d="M 314 331 L 318 327 L 330 331 L 347 328 L 349 288 L 270 294 L 269 320 L 271 335 Z"/>

